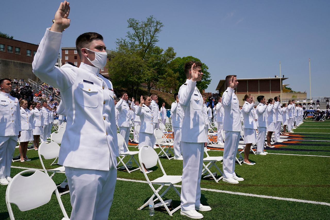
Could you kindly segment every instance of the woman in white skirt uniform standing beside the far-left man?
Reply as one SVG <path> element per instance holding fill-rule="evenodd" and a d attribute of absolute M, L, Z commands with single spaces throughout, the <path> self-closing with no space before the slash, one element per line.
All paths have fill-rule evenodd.
<path fill-rule="evenodd" d="M 27 152 L 27 144 L 29 141 L 33 141 L 33 135 L 32 135 L 32 105 L 30 106 L 30 110 L 27 109 L 27 101 L 25 99 L 22 99 L 19 102 L 20 105 L 20 118 L 21 118 L 21 136 L 18 138 L 19 140 L 19 155 L 20 155 L 20 161 L 30 161 L 30 159 L 27 158 L 26 152 Z"/>

